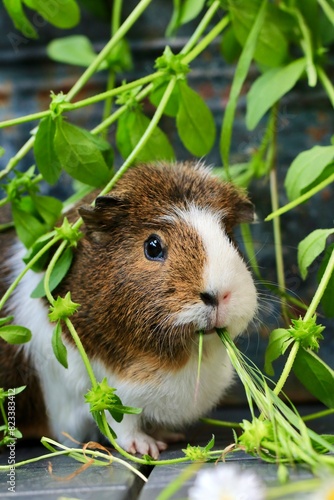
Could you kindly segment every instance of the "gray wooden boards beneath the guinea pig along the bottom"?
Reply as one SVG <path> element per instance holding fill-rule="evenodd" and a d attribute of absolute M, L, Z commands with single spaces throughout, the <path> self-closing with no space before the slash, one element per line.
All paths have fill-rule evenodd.
<path fill-rule="evenodd" d="M 317 408 L 302 408 L 302 412 L 311 413 Z M 214 415 L 217 418 L 229 421 L 241 421 L 248 418 L 248 411 L 242 408 L 229 408 L 225 411 L 218 411 Z M 319 419 L 313 424 L 313 428 L 320 433 L 333 433 L 334 416 Z M 171 446 L 166 452 L 161 454 L 161 459 L 177 458 L 182 456 L 182 448 L 187 443 L 192 445 L 205 445 L 212 434 L 216 436 L 216 446 L 222 449 L 233 442 L 232 431 L 230 429 L 212 427 L 206 424 L 198 424 L 188 430 L 186 442 Z M 16 448 L 16 459 L 24 460 L 45 454 L 47 451 L 36 442 L 21 443 Z M 8 460 L 8 453 L 0 454 L 0 465 L 5 465 Z M 71 479 L 66 477 L 74 473 L 80 464 L 69 457 L 55 457 L 52 462 L 52 475 L 48 471 L 49 460 L 35 462 L 16 470 L 16 491 L 8 491 L 7 473 L 0 472 L 0 498 L 1 499 L 22 499 L 22 500 L 60 500 L 60 499 L 113 499 L 113 500 L 156 500 L 161 491 L 178 477 L 182 471 L 189 467 L 186 464 L 164 465 L 159 467 L 141 467 L 140 470 L 148 477 L 148 482 L 144 482 L 127 470 L 125 467 L 114 464 L 108 467 L 90 467 L 83 473 Z M 261 462 L 260 460 L 246 455 L 243 452 L 230 454 L 228 462 L 237 462 L 241 469 L 251 469 L 255 471 L 268 485 L 277 483 L 277 467 L 272 464 Z M 202 467 L 215 467 L 214 463 L 203 464 Z M 218 464 L 224 467 L 223 463 Z M 311 477 L 302 466 L 291 468 L 291 479 L 301 479 Z M 188 479 L 181 489 L 171 498 L 174 500 L 186 499 L 187 492 L 194 477 Z M 287 497 L 285 497 L 287 498 Z M 299 493 L 296 496 L 289 496 L 289 499 L 306 499 L 308 495 Z"/>

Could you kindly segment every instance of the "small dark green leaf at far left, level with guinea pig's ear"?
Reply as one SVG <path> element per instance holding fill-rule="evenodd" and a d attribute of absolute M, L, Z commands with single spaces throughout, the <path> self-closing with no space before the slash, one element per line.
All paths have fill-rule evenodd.
<path fill-rule="evenodd" d="M 22 243 L 30 248 L 45 233 L 46 227 L 34 215 L 22 210 L 22 205 L 12 204 L 12 215 L 15 229 Z"/>

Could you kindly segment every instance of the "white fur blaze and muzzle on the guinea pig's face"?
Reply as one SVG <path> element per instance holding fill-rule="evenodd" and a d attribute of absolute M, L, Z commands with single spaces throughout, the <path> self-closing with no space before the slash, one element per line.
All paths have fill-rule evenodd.
<path fill-rule="evenodd" d="M 206 252 L 203 270 L 203 293 L 216 297 L 217 307 L 197 304 L 185 307 L 176 324 L 194 322 L 198 329 L 226 327 L 233 337 L 241 333 L 253 318 L 257 307 L 256 289 L 250 272 L 222 229 L 224 214 L 190 205 L 164 217 L 175 222 L 184 220 L 199 234 Z"/>

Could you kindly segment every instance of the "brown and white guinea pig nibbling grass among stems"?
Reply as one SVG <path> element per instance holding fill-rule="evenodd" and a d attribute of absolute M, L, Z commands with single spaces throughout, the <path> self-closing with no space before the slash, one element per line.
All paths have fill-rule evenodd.
<path fill-rule="evenodd" d="M 76 208 L 85 235 L 57 294 L 70 290 L 80 304 L 71 319 L 97 379 L 107 376 L 124 405 L 142 408 L 121 423 L 110 418 L 118 443 L 156 458 L 177 438 L 171 431 L 209 412 L 232 383 L 215 328 L 236 337 L 256 312 L 253 279 L 233 239 L 236 224 L 253 220 L 253 206 L 190 162 L 133 167 L 94 208 Z M 4 292 L 23 268 L 25 249 L 14 233 L 0 238 Z M 48 304 L 30 298 L 40 279 L 29 271 L 1 312 L 30 328 L 32 340 L 17 347 L 0 339 L 0 387 L 27 385 L 16 397 L 24 435 L 99 439 L 84 402 L 90 382 L 81 357 L 64 331 L 69 366 L 60 365 Z"/>

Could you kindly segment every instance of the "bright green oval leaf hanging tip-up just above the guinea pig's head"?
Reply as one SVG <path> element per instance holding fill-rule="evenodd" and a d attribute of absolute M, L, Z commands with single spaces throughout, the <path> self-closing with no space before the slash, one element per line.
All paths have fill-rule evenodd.
<path fill-rule="evenodd" d="M 176 116 L 178 134 L 184 146 L 195 156 L 204 156 L 211 150 L 216 137 L 212 113 L 203 99 L 184 81 L 178 81 L 180 93 Z"/>

